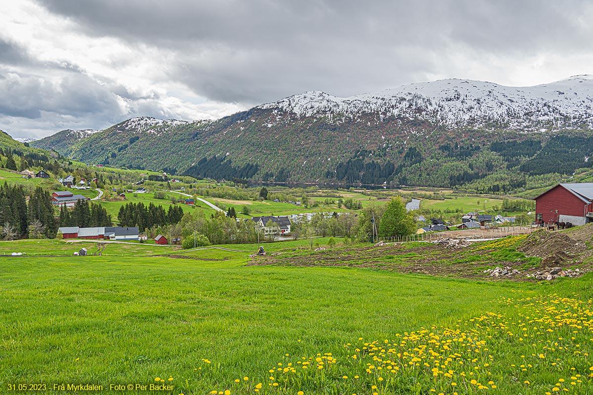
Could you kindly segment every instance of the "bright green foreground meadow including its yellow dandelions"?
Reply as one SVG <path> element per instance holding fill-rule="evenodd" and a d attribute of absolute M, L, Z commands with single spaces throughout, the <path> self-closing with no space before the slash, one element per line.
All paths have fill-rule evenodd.
<path fill-rule="evenodd" d="M 68 383 L 100 394 L 157 393 L 109 391 L 155 383 L 174 395 L 593 392 L 590 274 L 481 282 L 248 262 L 212 248 L 0 258 L 0 392 L 73 393 L 53 389 Z"/>

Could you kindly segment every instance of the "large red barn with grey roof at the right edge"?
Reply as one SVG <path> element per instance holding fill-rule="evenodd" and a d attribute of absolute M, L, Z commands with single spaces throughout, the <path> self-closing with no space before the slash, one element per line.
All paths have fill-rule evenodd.
<path fill-rule="evenodd" d="M 593 182 L 558 184 L 535 198 L 535 219 L 584 225 L 593 221 Z"/>

